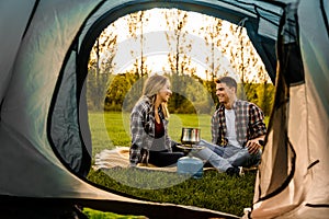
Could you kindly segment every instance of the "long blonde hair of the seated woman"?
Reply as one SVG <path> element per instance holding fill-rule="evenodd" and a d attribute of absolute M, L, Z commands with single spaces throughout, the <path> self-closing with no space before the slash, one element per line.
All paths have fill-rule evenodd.
<path fill-rule="evenodd" d="M 143 88 L 143 96 L 146 96 L 151 102 L 151 108 L 154 108 L 157 94 L 159 91 L 166 85 L 166 83 L 169 81 L 169 79 L 164 76 L 154 74 L 149 77 Z M 161 103 L 161 108 L 164 115 L 164 118 L 169 118 L 169 111 L 167 103 Z"/>

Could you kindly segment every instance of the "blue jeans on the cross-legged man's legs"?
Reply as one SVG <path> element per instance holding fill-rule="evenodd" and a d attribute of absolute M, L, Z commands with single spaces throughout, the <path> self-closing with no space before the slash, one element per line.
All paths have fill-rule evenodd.
<path fill-rule="evenodd" d="M 214 143 L 201 140 L 198 146 L 204 149 L 193 154 L 204 162 L 209 162 L 219 172 L 225 172 L 228 168 L 257 165 L 261 160 L 261 150 L 256 154 L 250 154 L 248 148 L 237 148 L 235 146 L 220 147 Z"/>

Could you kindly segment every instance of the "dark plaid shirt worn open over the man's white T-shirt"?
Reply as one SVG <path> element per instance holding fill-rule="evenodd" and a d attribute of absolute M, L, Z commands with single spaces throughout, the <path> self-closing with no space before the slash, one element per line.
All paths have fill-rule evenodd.
<path fill-rule="evenodd" d="M 266 134 L 263 112 L 256 104 L 237 100 L 232 110 L 236 114 L 237 140 L 242 147 L 248 140 Z M 212 142 L 227 146 L 226 132 L 225 107 L 222 104 L 212 117 Z"/>

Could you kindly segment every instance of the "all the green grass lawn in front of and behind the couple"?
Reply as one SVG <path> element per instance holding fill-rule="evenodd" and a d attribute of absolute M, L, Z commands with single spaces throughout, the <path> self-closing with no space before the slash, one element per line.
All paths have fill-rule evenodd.
<path fill-rule="evenodd" d="M 122 113 L 89 114 L 93 158 L 103 149 L 129 147 L 128 116 Z M 171 115 L 169 135 L 173 140 L 180 141 L 182 127 L 198 127 L 201 137 L 211 140 L 209 115 Z M 205 171 L 200 180 L 182 177 L 175 173 L 131 169 L 91 170 L 88 175 L 94 183 L 151 201 L 197 206 L 236 216 L 242 216 L 243 208 L 252 206 L 256 172 L 248 172 L 245 177 L 236 178 L 209 170 Z M 92 209 L 86 209 L 86 212 L 90 218 L 97 218 Z M 99 218 L 123 218 L 113 215 Z"/>

